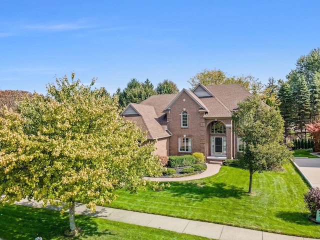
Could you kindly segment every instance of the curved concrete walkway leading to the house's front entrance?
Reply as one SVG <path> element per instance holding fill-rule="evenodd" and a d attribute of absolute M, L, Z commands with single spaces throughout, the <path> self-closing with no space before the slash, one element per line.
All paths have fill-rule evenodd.
<path fill-rule="evenodd" d="M 194 179 L 200 179 L 207 176 L 212 176 L 219 172 L 221 165 L 219 164 L 206 164 L 206 170 L 195 175 L 190 176 L 182 176 L 182 177 L 145 177 L 146 179 L 149 179 L 151 181 L 187 181 L 187 180 L 194 180 Z"/>

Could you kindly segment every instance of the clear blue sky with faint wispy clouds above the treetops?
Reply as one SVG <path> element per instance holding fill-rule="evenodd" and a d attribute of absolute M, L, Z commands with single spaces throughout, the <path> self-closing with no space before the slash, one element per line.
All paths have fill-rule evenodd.
<path fill-rule="evenodd" d="M 71 71 L 189 88 L 203 69 L 285 79 L 320 46 L 319 0 L 0 0 L 0 89 L 45 93 Z"/>

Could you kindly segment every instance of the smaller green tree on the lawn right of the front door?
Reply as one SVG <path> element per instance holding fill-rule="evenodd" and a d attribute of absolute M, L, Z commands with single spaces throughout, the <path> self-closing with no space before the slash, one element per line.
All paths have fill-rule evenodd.
<path fill-rule="evenodd" d="M 235 134 L 245 142 L 238 159 L 240 166 L 250 173 L 251 192 L 254 172 L 276 170 L 292 156 L 283 144 L 283 120 L 278 110 L 267 107 L 253 95 L 238 103 L 232 121 Z"/>

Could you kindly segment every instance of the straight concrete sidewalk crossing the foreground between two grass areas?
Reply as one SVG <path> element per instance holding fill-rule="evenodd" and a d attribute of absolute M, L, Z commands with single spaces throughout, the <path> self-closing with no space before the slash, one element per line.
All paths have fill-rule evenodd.
<path fill-rule="evenodd" d="M 18 205 L 42 207 L 41 202 L 27 199 L 16 202 Z M 47 209 L 59 210 L 56 206 L 46 206 Z M 180 233 L 204 236 L 221 240 L 306 240 L 311 238 L 282 235 L 246 228 L 194 221 L 170 216 L 127 211 L 110 207 L 96 206 L 95 212 L 90 212 L 84 204 L 76 203 L 75 213 L 92 217 L 100 217 L 113 221 L 121 221 L 136 225 L 171 230 Z M 313 239 L 313 238 L 312 238 Z"/>

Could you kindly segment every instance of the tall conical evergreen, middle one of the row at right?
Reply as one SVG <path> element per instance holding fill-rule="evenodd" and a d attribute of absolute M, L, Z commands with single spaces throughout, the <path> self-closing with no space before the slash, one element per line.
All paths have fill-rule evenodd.
<path fill-rule="evenodd" d="M 295 121 L 295 129 L 299 132 L 299 138 L 302 139 L 303 131 L 305 133 L 305 123 L 309 121 L 310 114 L 310 93 L 303 76 L 298 76 L 293 81 L 293 114 Z"/>

